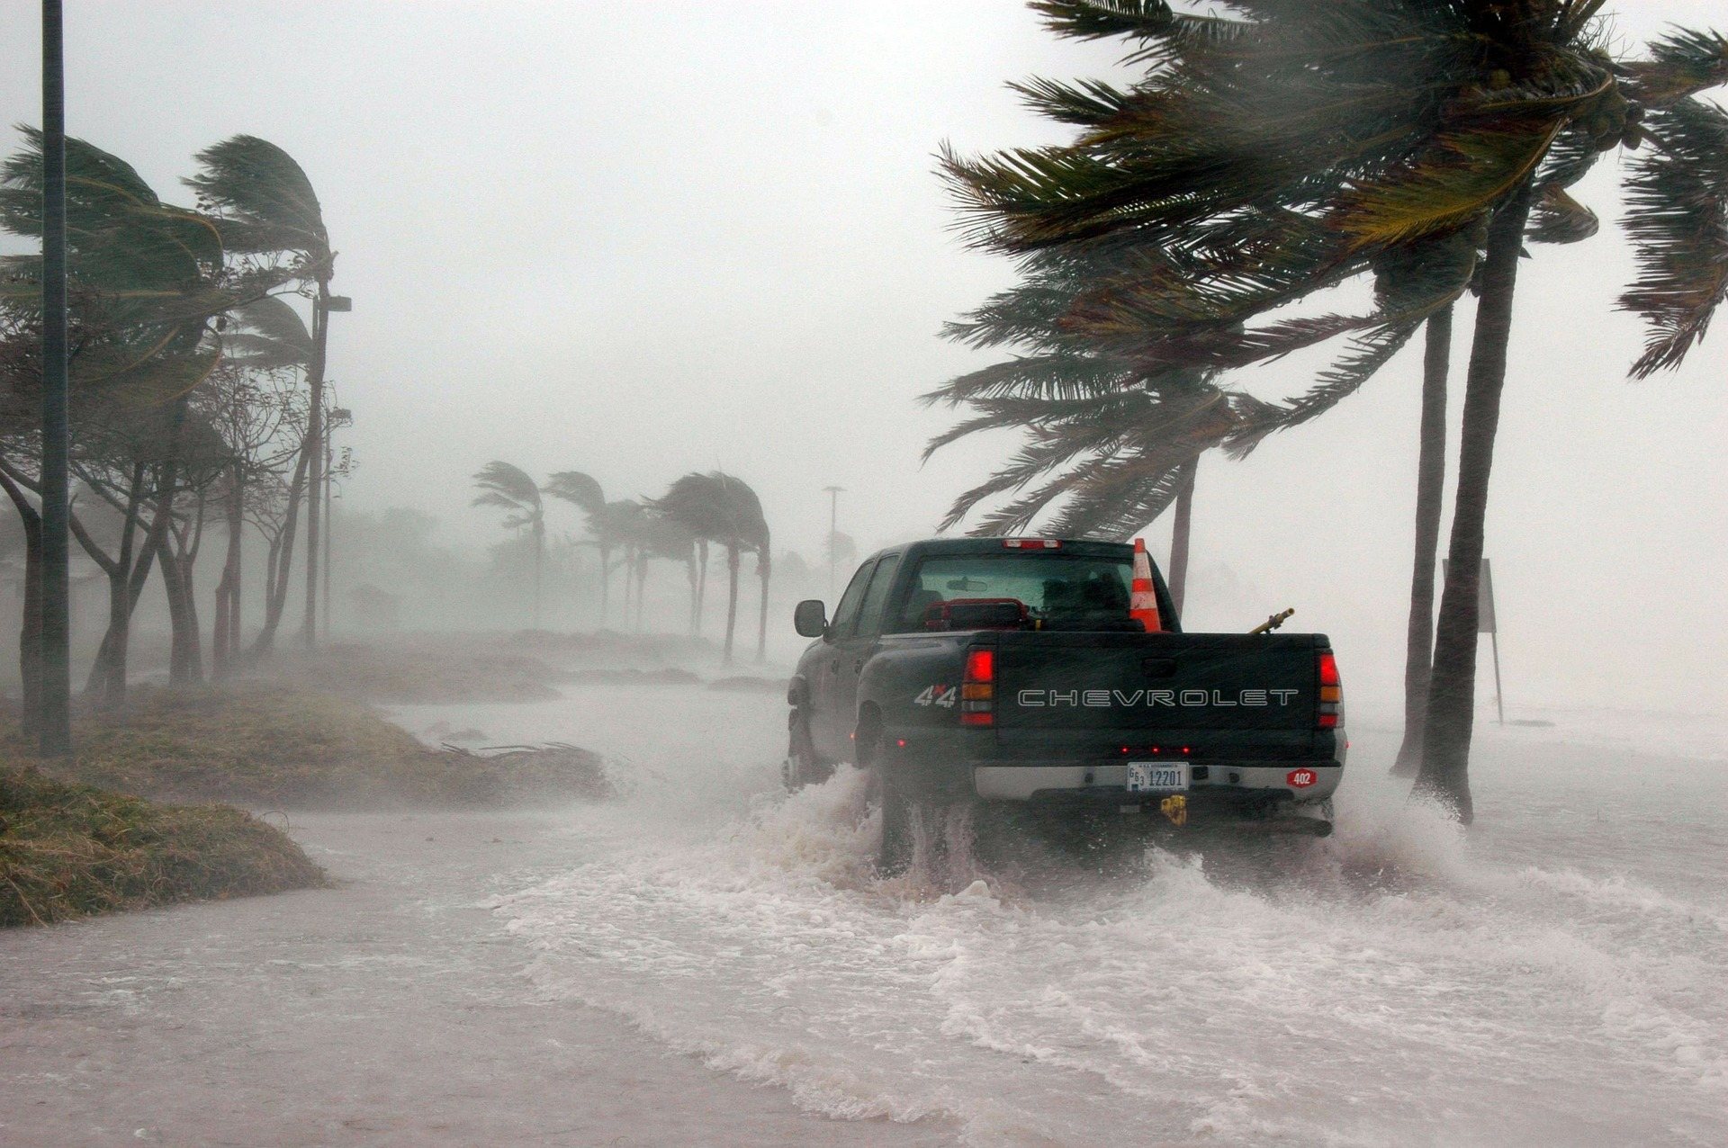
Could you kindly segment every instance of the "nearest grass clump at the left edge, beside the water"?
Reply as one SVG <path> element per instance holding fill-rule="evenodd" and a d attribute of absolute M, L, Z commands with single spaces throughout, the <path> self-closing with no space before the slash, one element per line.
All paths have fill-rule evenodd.
<path fill-rule="evenodd" d="M 0 766 L 0 925 L 328 884 L 287 834 L 219 804 L 152 804 Z"/>

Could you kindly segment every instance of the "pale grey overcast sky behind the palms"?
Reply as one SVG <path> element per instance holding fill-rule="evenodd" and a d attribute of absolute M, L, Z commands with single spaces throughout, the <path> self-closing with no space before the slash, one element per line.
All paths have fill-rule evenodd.
<path fill-rule="evenodd" d="M 1728 24 L 1714 0 L 1610 9 L 1626 43 Z M 0 38 L 7 123 L 40 121 L 29 12 L 10 5 Z M 67 124 L 169 200 L 235 133 L 301 161 L 354 297 L 330 352 L 358 419 L 354 506 L 415 506 L 480 542 L 496 514 L 468 509 L 468 476 L 494 457 L 586 470 L 608 497 L 721 466 L 762 494 L 779 546 L 814 556 L 824 485 L 847 487 L 842 528 L 871 547 L 930 533 L 1013 447 L 918 463 L 947 414 L 916 395 L 985 361 L 940 325 L 1011 278 L 954 238 L 931 154 L 1059 140 L 1004 81 L 1096 76 L 1116 54 L 1013 0 L 73 0 Z M 1617 176 L 1604 162 L 1579 192 L 1605 219 Z M 1626 382 L 1630 273 L 1614 226 L 1522 269 L 1488 539 L 1509 692 L 1725 711 L 1728 328 L 1681 371 Z M 1301 390 L 1318 364 L 1251 385 Z M 1391 691 L 1417 378 L 1412 349 L 1246 463 L 1206 459 L 1194 621 L 1296 606 L 1293 625 Z"/>

